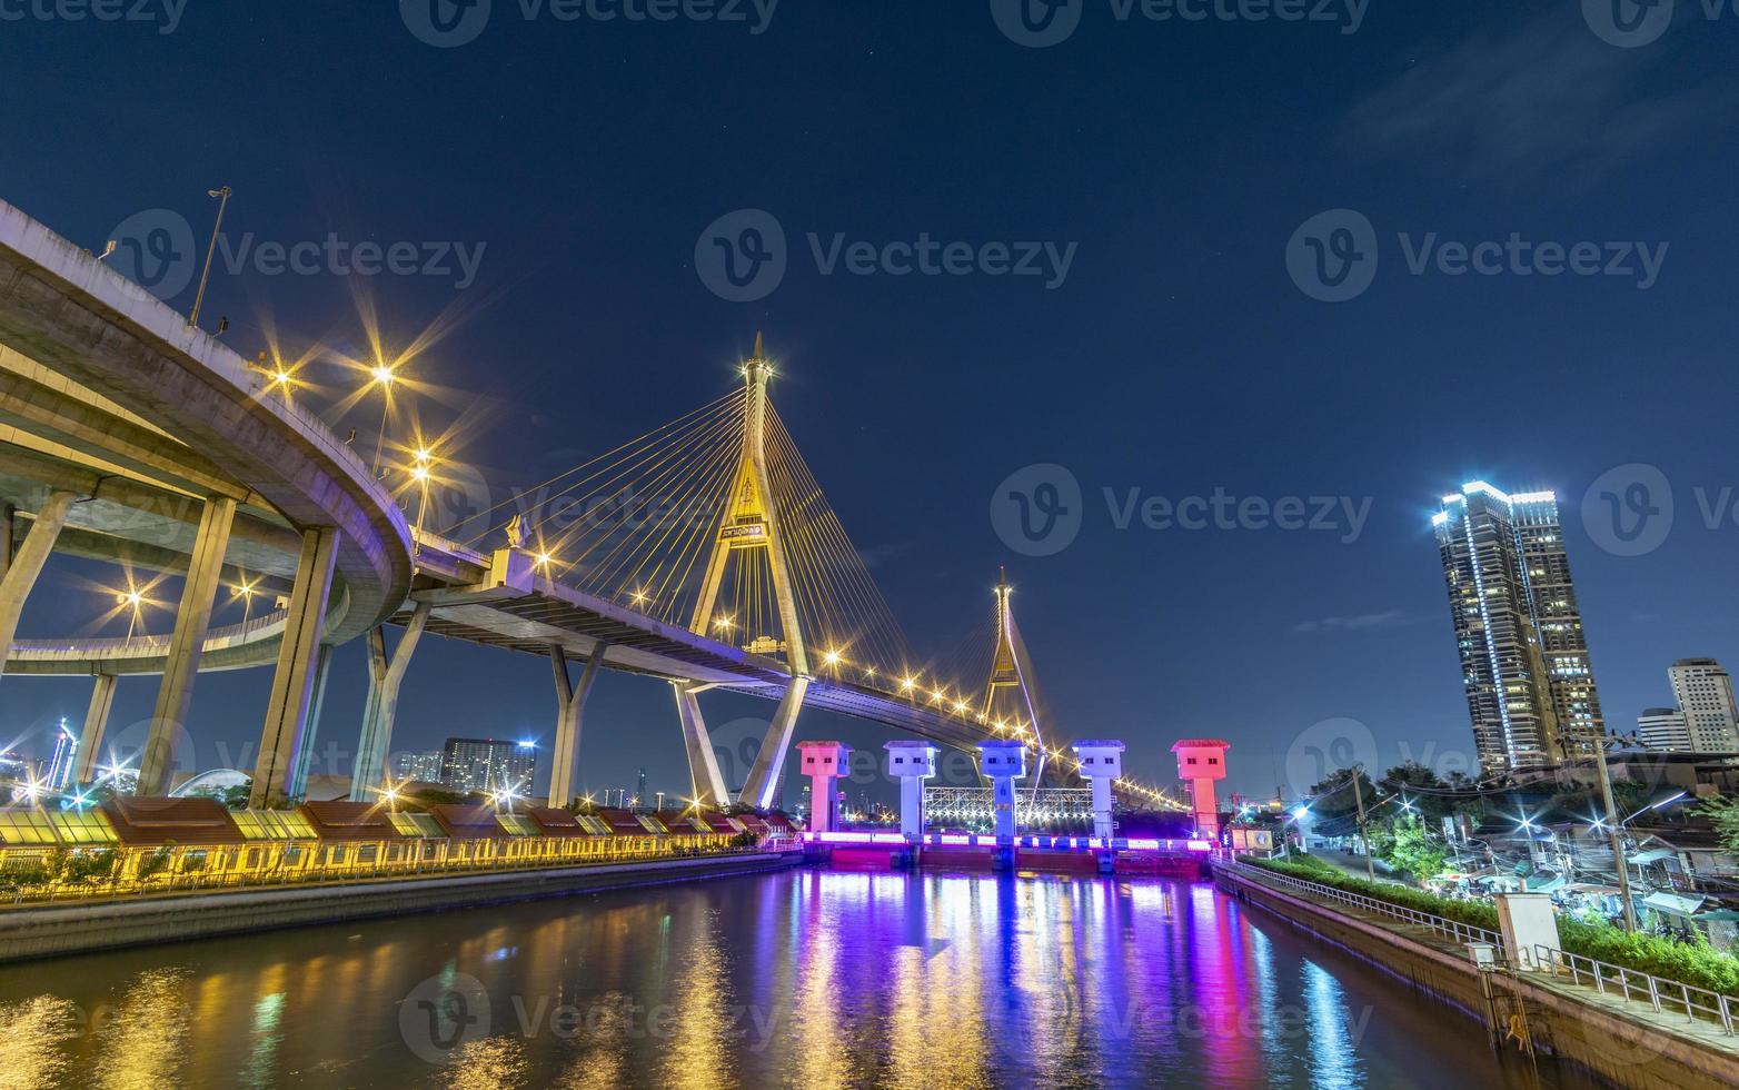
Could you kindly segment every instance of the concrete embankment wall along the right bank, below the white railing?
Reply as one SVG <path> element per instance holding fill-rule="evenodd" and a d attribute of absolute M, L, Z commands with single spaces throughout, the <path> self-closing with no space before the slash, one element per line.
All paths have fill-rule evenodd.
<path fill-rule="evenodd" d="M 1536 974 L 1482 974 L 1466 949 L 1452 947 L 1424 928 L 1402 928 L 1379 916 L 1363 918 L 1276 890 L 1256 878 L 1216 866 L 1214 881 L 1238 901 L 1309 930 L 1370 965 L 1405 980 L 1435 1001 L 1468 1017 L 1509 1029 L 1525 1027 L 1541 1052 L 1572 1062 L 1614 1087 L 1702 1090 L 1739 1087 L 1739 1047 L 1715 1038 L 1720 1027 L 1687 1024 L 1683 1015 L 1659 1015 L 1647 1003 L 1598 996 L 1589 987 L 1560 984 Z M 1409 934 L 1410 932 L 1410 934 Z M 1494 1000 L 1487 998 L 1487 986 Z M 1496 1014 L 1494 1014 L 1496 1008 Z M 1525 1017 L 1513 1024 L 1511 1017 Z"/>

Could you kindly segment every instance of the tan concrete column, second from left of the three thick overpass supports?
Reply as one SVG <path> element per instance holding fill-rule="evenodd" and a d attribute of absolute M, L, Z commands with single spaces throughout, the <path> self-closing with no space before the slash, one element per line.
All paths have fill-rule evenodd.
<path fill-rule="evenodd" d="M 207 499 L 205 511 L 200 513 L 198 535 L 193 539 L 193 555 L 188 558 L 188 575 L 181 586 L 176 635 L 169 640 L 163 683 L 157 690 L 157 708 L 151 711 L 151 734 L 139 761 L 139 794 L 169 794 L 176 728 L 186 725 L 188 709 L 193 706 L 193 681 L 200 675 L 200 654 L 212 626 L 212 607 L 217 603 L 231 525 L 235 525 L 235 501 L 228 495 Z"/>

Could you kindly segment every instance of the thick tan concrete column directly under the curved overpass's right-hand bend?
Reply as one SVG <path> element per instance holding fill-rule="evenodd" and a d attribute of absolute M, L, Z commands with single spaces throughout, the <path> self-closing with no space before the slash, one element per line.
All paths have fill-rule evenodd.
<path fill-rule="evenodd" d="M 254 789 L 247 800 L 254 810 L 287 807 L 290 801 L 290 784 L 308 741 L 308 714 L 320 666 L 320 629 L 325 626 L 336 562 L 337 530 L 303 534 L 303 551 L 296 562 L 296 589 L 290 591 L 283 641 L 278 645 L 278 669 L 271 678 L 271 701 L 266 704 L 266 725 L 259 734 Z"/>

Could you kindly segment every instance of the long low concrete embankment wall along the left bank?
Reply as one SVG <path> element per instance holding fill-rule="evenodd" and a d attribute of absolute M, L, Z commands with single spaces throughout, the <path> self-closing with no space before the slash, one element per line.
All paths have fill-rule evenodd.
<path fill-rule="evenodd" d="M 565 897 L 636 887 L 777 871 L 800 854 L 767 852 L 711 859 L 659 859 L 607 866 L 546 867 L 430 878 L 172 894 L 97 904 L 43 904 L 0 911 L 0 963 L 151 946 L 210 935 L 264 932 Z"/>

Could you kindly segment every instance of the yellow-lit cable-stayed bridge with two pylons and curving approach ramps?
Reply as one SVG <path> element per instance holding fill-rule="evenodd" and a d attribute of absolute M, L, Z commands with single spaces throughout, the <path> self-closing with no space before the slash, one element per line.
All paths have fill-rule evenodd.
<path fill-rule="evenodd" d="M 1068 758 L 1047 742 L 1007 582 L 969 648 L 976 662 L 948 671 L 913 654 L 774 410 L 772 377 L 756 341 L 737 389 L 511 497 L 487 513 L 487 528 L 449 541 L 402 509 L 402 492 L 440 476 L 436 461 L 414 459 L 398 468 L 403 485 L 388 487 L 379 466 L 297 405 L 283 376 L 0 203 L 0 671 L 96 678 L 80 781 L 103 751 L 115 678 L 160 675 L 143 794 L 169 788 L 200 671 L 271 666 L 254 805 L 299 798 L 316 727 L 341 730 L 336 714 L 320 714 L 332 650 L 360 636 L 372 683 L 353 794 L 372 798 L 386 782 L 400 688 L 431 631 L 550 659 L 558 803 L 572 794 L 586 699 L 603 669 L 671 683 L 706 803 L 729 793 L 701 709 L 713 688 L 776 704 L 739 793 L 751 805 L 774 801 L 805 708 L 963 749 L 1024 739 L 1035 782 L 1061 782 Z M 174 631 L 16 640 L 57 549 L 179 574 Z M 212 628 L 219 593 L 243 572 L 283 607 Z"/>

